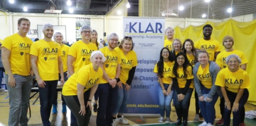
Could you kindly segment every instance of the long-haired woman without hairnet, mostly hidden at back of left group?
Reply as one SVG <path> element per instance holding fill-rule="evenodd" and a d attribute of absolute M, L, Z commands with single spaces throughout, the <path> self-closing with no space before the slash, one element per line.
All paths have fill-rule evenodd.
<path fill-rule="evenodd" d="M 98 43 L 98 33 L 96 30 L 92 30 L 92 36 L 90 39 L 90 42 L 97 47 L 97 49 L 101 49 L 104 46 L 101 43 Z M 98 108 L 98 91 L 95 92 L 94 94 L 95 102 L 93 104 L 93 111 L 97 112 Z"/>

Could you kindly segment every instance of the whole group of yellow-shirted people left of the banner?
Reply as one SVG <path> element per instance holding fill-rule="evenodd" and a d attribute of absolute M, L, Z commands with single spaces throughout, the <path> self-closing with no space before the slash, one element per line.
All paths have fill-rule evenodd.
<path fill-rule="evenodd" d="M 118 46 L 118 35 L 111 33 L 107 36 L 109 45 L 103 47 L 97 42 L 97 31 L 84 25 L 80 29 L 82 40 L 69 48 L 62 44 L 61 32 L 53 35 L 51 24 L 43 25 L 44 38 L 34 43 L 26 37 L 29 19 L 20 18 L 17 25 L 18 32 L 5 38 L 1 48 L 10 96 L 8 125 L 28 125 L 33 75 L 37 78 L 43 125 L 51 125 L 52 105 L 53 113 L 57 113 L 58 81 L 63 85 L 62 113 L 66 113 L 66 105 L 71 110 L 70 125 L 89 124 L 91 100 L 97 90 L 101 99 L 97 125 L 128 124 L 123 113 L 137 66 L 132 38 L 124 37 Z"/>

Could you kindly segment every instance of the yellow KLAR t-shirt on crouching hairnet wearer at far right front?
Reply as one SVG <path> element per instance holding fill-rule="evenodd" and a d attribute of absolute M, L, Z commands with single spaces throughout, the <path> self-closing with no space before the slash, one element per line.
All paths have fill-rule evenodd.
<path fill-rule="evenodd" d="M 239 88 L 250 88 L 249 75 L 244 69 L 231 72 L 228 68 L 224 68 L 217 74 L 215 85 L 237 93 Z"/>

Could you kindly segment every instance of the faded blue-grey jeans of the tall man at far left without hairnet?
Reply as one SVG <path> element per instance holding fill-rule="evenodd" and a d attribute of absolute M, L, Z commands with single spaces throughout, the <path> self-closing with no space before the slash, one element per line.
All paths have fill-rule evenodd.
<path fill-rule="evenodd" d="M 8 84 L 9 92 L 9 120 L 8 125 L 28 125 L 28 108 L 29 98 L 32 88 L 33 76 L 21 76 L 14 74 L 16 82 L 15 87 L 10 87 Z M 8 74 L 5 77 L 6 83 L 8 83 Z"/>

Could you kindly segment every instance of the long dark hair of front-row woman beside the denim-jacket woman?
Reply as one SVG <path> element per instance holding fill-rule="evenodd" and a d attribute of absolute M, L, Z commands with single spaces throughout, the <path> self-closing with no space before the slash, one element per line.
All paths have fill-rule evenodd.
<path fill-rule="evenodd" d="M 177 62 L 177 57 L 179 57 L 179 55 L 183 55 L 183 57 L 185 58 L 185 62 L 182 64 L 184 75 L 187 73 L 187 67 L 191 66 L 191 69 L 193 68 L 192 65 L 190 64 L 190 62 L 187 59 L 187 55 L 183 52 L 179 52 L 176 55 L 176 60 L 174 62 L 174 66 L 173 66 L 173 74 L 174 74 L 175 77 L 178 77 L 177 69 L 179 67 L 179 64 Z M 192 74 L 192 71 L 191 71 L 191 74 Z"/>

